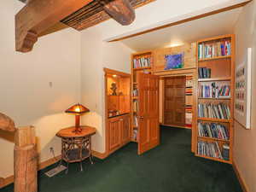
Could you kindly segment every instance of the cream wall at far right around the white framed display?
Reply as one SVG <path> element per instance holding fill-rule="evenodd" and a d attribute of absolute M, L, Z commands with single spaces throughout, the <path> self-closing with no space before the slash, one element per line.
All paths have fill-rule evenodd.
<path fill-rule="evenodd" d="M 251 130 L 245 130 L 235 123 L 234 161 L 245 180 L 249 192 L 256 192 L 256 2 L 242 9 L 236 24 L 236 65 L 246 56 L 246 49 L 253 48 L 252 82 L 252 124 Z"/>

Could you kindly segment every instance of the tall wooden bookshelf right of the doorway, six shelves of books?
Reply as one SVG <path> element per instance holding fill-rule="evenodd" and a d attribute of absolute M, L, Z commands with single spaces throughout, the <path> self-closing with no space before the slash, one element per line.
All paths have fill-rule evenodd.
<path fill-rule="evenodd" d="M 235 36 L 197 42 L 195 156 L 233 159 Z"/>

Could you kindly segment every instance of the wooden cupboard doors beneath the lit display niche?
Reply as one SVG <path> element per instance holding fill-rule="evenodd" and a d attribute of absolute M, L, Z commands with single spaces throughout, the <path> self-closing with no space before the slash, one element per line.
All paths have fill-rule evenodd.
<path fill-rule="evenodd" d="M 108 152 L 113 151 L 129 143 L 131 140 L 130 114 L 108 119 Z"/>

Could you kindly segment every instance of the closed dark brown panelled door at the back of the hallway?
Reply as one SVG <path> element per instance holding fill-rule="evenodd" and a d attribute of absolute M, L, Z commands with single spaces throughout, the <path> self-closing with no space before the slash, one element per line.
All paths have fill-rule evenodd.
<path fill-rule="evenodd" d="M 186 76 L 166 78 L 164 84 L 164 125 L 185 126 Z"/>

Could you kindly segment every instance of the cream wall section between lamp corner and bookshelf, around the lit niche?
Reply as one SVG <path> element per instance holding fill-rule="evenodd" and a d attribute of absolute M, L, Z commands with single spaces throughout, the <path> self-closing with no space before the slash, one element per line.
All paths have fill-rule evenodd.
<path fill-rule="evenodd" d="M 91 27 L 81 36 L 81 96 L 82 102 L 90 113 L 84 114 L 84 125 L 92 125 L 97 129 L 92 137 L 92 149 L 105 152 L 104 123 L 104 73 L 103 68 L 130 73 L 130 56 L 132 50 L 124 44 L 106 43 L 102 40 L 100 27 Z"/>

